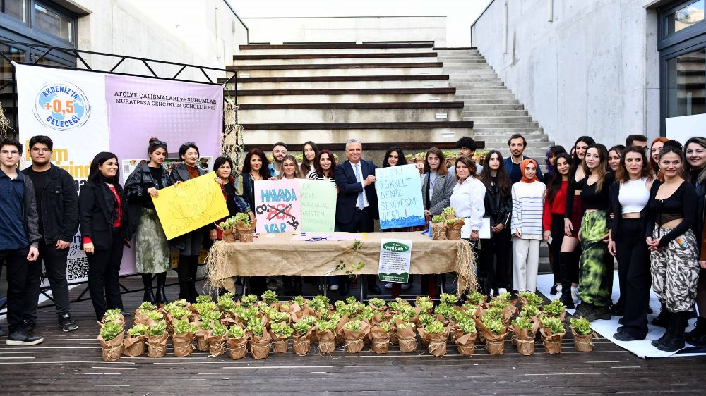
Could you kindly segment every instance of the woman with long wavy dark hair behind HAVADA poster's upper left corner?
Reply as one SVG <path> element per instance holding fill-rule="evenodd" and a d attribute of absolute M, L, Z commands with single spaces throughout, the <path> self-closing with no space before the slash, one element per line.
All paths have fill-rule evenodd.
<path fill-rule="evenodd" d="M 255 209 L 255 182 L 270 178 L 270 162 L 261 149 L 250 149 L 243 161 L 243 173 L 237 182 L 238 193 L 251 209 Z M 267 278 L 251 276 L 249 278 L 250 292 L 262 295 L 267 290 Z"/>

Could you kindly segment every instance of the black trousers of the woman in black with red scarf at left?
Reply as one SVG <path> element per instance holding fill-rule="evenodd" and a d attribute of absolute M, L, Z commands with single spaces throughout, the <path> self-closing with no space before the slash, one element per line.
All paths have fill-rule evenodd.
<path fill-rule="evenodd" d="M 95 250 L 88 257 L 88 290 L 95 317 L 100 321 L 108 309 L 123 309 L 118 276 L 123 259 L 123 238 L 120 230 L 113 230 L 109 249 Z"/>

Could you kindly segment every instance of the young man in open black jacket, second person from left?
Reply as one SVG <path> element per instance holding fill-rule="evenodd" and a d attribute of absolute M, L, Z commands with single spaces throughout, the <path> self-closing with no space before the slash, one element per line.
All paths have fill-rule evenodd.
<path fill-rule="evenodd" d="M 47 270 L 52 299 L 59 326 L 64 331 L 78 328 L 71 318 L 66 281 L 66 259 L 71 240 L 78 230 L 78 194 L 73 178 L 52 164 L 54 142 L 48 136 L 30 139 L 32 166 L 22 171 L 35 187 L 39 230 L 42 235 L 40 257 L 27 268 L 27 285 L 23 321 L 31 333 L 37 323 L 37 300 L 40 295 L 42 261 Z"/>

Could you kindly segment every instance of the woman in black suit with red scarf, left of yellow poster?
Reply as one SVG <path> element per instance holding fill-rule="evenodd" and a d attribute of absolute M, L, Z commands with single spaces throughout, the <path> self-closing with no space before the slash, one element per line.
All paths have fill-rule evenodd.
<path fill-rule="evenodd" d="M 88 259 L 88 290 L 99 321 L 108 309 L 123 309 L 118 275 L 123 245 L 130 246 L 132 230 L 119 168 L 115 154 L 96 154 L 88 181 L 81 185 L 78 195 L 83 251 Z"/>

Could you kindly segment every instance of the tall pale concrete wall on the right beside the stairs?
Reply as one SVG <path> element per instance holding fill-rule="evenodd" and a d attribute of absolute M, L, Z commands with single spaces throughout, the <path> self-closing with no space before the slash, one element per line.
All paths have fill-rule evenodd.
<path fill-rule="evenodd" d="M 472 45 L 557 144 L 656 137 L 657 13 L 644 8 L 649 2 L 495 0 L 472 26 Z"/>

